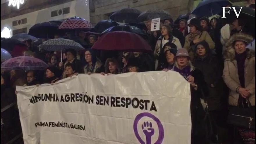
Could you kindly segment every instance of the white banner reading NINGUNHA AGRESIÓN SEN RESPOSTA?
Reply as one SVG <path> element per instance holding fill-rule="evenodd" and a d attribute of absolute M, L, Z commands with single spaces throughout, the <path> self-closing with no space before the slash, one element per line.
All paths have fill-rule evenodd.
<path fill-rule="evenodd" d="M 25 144 L 190 144 L 190 84 L 177 72 L 79 74 L 17 86 Z"/>

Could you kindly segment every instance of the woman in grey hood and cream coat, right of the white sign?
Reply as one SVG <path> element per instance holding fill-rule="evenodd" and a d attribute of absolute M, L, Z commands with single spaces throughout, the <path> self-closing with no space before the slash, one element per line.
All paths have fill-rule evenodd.
<path fill-rule="evenodd" d="M 181 45 L 179 39 L 172 35 L 171 27 L 169 25 L 163 25 L 161 27 L 161 34 L 162 34 L 162 36 L 160 36 L 158 38 L 157 44 L 155 47 L 155 51 L 154 51 L 155 58 L 158 58 L 161 49 L 167 42 L 174 43 L 176 45 L 177 49 L 182 48 L 182 45 Z"/>

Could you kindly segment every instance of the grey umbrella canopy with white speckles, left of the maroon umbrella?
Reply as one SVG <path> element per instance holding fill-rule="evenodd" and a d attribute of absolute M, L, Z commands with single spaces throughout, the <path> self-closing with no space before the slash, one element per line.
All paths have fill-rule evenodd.
<path fill-rule="evenodd" d="M 76 51 L 80 51 L 84 49 L 79 43 L 63 38 L 47 40 L 38 47 L 47 51 L 62 51 L 65 49 L 74 49 Z"/>

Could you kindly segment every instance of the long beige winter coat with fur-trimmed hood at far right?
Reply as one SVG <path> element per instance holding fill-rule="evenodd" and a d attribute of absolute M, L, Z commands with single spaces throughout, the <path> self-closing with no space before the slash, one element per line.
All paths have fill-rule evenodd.
<path fill-rule="evenodd" d="M 253 38 L 243 33 L 237 33 L 234 34 L 225 45 L 225 63 L 222 77 L 230 89 L 228 102 L 232 106 L 238 105 L 239 93 L 237 93 L 236 90 L 240 86 L 235 49 L 233 48 L 233 43 L 236 40 L 243 40 L 246 43 L 250 43 Z M 249 92 L 251 95 L 249 96 L 249 101 L 252 106 L 255 106 L 255 51 L 248 51 L 244 70 L 245 88 L 250 89 Z"/>

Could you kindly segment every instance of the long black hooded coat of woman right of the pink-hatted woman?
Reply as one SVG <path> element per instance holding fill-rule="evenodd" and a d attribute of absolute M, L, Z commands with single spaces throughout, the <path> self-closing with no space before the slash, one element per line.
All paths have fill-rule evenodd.
<path fill-rule="evenodd" d="M 207 95 L 209 109 L 219 109 L 220 93 L 218 89 L 218 84 L 221 80 L 221 69 L 219 67 L 219 62 L 215 56 L 211 55 L 211 51 L 207 42 L 202 41 L 199 42 L 197 45 L 199 44 L 205 47 L 206 55 L 205 58 L 202 59 L 197 54 L 195 54 L 193 65 L 202 72 L 205 82 L 207 84 L 207 88 L 209 90 L 209 95 Z M 214 87 L 211 87 L 211 84 L 213 84 Z"/>

